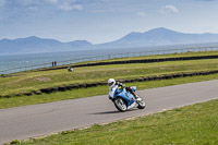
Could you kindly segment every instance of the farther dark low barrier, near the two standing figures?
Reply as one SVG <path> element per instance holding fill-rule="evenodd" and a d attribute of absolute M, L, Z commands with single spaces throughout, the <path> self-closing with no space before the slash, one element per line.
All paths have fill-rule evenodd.
<path fill-rule="evenodd" d="M 160 58 L 160 59 L 138 59 L 138 60 L 124 60 L 124 61 L 109 61 L 109 62 L 96 62 L 86 64 L 75 64 L 73 68 L 81 67 L 96 67 L 96 65 L 109 65 L 109 64 L 126 64 L 126 63 L 153 63 L 153 62 L 165 62 L 165 61 L 182 61 L 182 60 L 201 60 L 201 59 L 218 59 L 218 56 L 197 56 L 197 57 L 178 57 L 178 58 Z M 60 70 L 66 69 L 66 67 L 48 68 L 40 71 L 48 70 Z"/>

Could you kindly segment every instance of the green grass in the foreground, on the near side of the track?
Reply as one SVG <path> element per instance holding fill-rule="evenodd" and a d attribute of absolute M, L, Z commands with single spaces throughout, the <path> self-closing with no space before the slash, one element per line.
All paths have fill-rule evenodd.
<path fill-rule="evenodd" d="M 178 108 L 160 113 L 95 124 L 86 130 L 65 131 L 45 138 L 22 142 L 22 145 L 162 145 L 218 144 L 218 100 Z"/>

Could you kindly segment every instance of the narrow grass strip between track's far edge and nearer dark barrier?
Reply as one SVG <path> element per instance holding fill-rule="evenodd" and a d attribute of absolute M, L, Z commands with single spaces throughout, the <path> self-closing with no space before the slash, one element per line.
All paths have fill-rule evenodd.
<path fill-rule="evenodd" d="M 209 81 L 209 80 L 217 80 L 217 78 L 218 78 L 218 74 L 211 74 L 211 75 L 181 77 L 181 78 L 173 78 L 173 80 L 126 83 L 126 86 L 133 85 L 133 86 L 137 86 L 137 89 L 146 89 L 146 88 L 164 87 L 164 86 L 170 86 L 170 85 L 179 85 L 179 84 L 184 84 L 184 83 L 193 83 L 193 82 Z M 97 96 L 97 95 L 105 95 L 105 94 L 108 94 L 108 92 L 109 92 L 108 86 L 97 86 L 97 87 L 80 88 L 80 89 L 59 92 L 59 93 L 52 93 L 52 94 L 20 96 L 20 97 L 14 96 L 11 98 L 1 98 L 0 109 L 59 101 L 59 100 L 65 100 L 65 99 L 92 97 L 92 96 Z"/>

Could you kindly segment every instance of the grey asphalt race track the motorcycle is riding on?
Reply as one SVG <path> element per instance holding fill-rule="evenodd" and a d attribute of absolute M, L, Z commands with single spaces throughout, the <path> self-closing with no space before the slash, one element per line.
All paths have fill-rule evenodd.
<path fill-rule="evenodd" d="M 218 80 L 137 90 L 143 110 L 118 112 L 108 95 L 0 109 L 0 144 L 218 98 Z"/>

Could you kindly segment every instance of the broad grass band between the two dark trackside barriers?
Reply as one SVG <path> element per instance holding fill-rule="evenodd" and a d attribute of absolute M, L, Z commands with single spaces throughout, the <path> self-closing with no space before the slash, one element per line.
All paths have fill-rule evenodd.
<path fill-rule="evenodd" d="M 76 68 L 74 72 L 66 70 L 26 72 L 13 77 L 0 77 L 0 95 L 14 95 L 70 84 L 107 82 L 109 77 L 125 80 L 209 70 L 218 70 L 218 59 L 84 67 Z"/>

